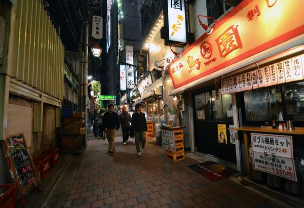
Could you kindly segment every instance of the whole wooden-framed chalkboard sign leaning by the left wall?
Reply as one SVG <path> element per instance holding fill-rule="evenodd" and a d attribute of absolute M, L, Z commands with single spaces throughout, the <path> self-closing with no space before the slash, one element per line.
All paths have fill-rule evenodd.
<path fill-rule="evenodd" d="M 29 193 L 35 187 L 41 190 L 40 175 L 37 173 L 23 134 L 8 136 L 7 140 L 2 141 L 2 147 L 13 181 L 17 184 L 20 203 L 25 206 L 23 194 Z"/>

